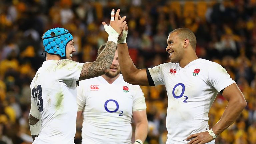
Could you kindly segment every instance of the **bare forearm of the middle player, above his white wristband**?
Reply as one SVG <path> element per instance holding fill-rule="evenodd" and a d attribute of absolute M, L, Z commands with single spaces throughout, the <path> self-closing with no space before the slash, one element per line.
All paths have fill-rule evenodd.
<path fill-rule="evenodd" d="M 146 140 L 148 135 L 148 123 L 141 122 L 136 124 L 135 128 L 135 140 L 140 139 L 143 142 Z"/>

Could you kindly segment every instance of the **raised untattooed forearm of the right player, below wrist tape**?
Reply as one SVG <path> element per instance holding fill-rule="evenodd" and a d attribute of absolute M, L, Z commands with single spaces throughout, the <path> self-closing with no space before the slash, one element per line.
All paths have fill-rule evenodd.
<path fill-rule="evenodd" d="M 138 70 L 133 64 L 133 61 L 129 55 L 127 43 L 118 44 L 118 61 L 124 77 L 124 80 L 131 81 L 133 73 Z"/>

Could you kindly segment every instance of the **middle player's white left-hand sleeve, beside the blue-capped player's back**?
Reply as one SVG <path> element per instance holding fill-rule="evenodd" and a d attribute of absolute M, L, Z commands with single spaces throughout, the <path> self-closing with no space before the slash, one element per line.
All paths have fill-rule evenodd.
<path fill-rule="evenodd" d="M 83 111 L 85 102 L 86 102 L 86 96 L 84 93 L 83 85 L 77 86 L 77 97 L 76 97 L 76 102 L 77 102 L 77 111 Z"/>

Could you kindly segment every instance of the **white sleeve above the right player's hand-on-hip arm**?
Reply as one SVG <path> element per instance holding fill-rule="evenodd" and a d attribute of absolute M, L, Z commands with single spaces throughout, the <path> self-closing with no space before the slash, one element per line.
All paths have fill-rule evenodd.
<path fill-rule="evenodd" d="M 208 79 L 210 84 L 220 92 L 227 86 L 235 83 L 227 73 L 226 69 L 224 69 L 221 65 L 214 63 L 209 71 L 208 71 Z"/>

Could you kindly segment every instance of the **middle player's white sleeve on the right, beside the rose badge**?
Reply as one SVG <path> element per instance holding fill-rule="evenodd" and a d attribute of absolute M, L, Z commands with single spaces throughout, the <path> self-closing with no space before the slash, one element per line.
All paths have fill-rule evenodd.
<path fill-rule="evenodd" d="M 133 106 L 132 111 L 145 110 L 147 108 L 144 93 L 142 92 L 140 86 L 134 85 L 134 96 L 133 96 Z"/>

